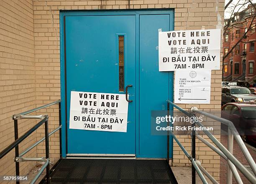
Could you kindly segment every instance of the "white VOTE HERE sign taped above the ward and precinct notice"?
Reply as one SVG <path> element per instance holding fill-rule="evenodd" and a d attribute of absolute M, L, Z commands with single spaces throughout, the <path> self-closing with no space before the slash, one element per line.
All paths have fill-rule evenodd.
<path fill-rule="evenodd" d="M 220 70 L 220 29 L 159 32 L 159 71 Z"/>

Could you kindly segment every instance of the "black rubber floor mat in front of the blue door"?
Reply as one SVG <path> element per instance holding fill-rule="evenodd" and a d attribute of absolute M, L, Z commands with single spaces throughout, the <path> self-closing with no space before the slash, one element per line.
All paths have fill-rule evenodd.
<path fill-rule="evenodd" d="M 61 159 L 51 184 L 177 184 L 166 160 Z"/>

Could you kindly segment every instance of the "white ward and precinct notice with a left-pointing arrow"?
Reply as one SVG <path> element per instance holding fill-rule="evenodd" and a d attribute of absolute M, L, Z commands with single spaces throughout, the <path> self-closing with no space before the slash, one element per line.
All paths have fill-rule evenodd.
<path fill-rule="evenodd" d="M 174 103 L 210 104 L 211 70 L 175 72 Z"/>

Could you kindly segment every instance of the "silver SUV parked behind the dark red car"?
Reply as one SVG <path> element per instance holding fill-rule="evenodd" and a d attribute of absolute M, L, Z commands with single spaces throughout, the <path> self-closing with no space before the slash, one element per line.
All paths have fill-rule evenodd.
<path fill-rule="evenodd" d="M 246 87 L 227 86 L 222 87 L 221 92 L 221 104 L 229 102 L 249 102 L 256 99 L 255 94 L 251 94 L 251 91 Z"/>

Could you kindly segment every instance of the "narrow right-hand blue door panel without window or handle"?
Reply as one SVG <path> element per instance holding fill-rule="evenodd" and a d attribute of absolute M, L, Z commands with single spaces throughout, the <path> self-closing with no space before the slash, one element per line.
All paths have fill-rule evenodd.
<path fill-rule="evenodd" d="M 172 99 L 173 76 L 159 72 L 158 29 L 170 30 L 170 15 L 140 15 L 139 149 L 136 156 L 166 158 L 166 136 L 151 133 L 151 111 L 166 110 Z M 170 75 L 170 76 L 169 76 Z M 172 89 L 173 90 L 173 89 Z M 159 144 L 160 143 L 160 144 Z M 171 146 L 172 148 L 172 146 Z"/>

